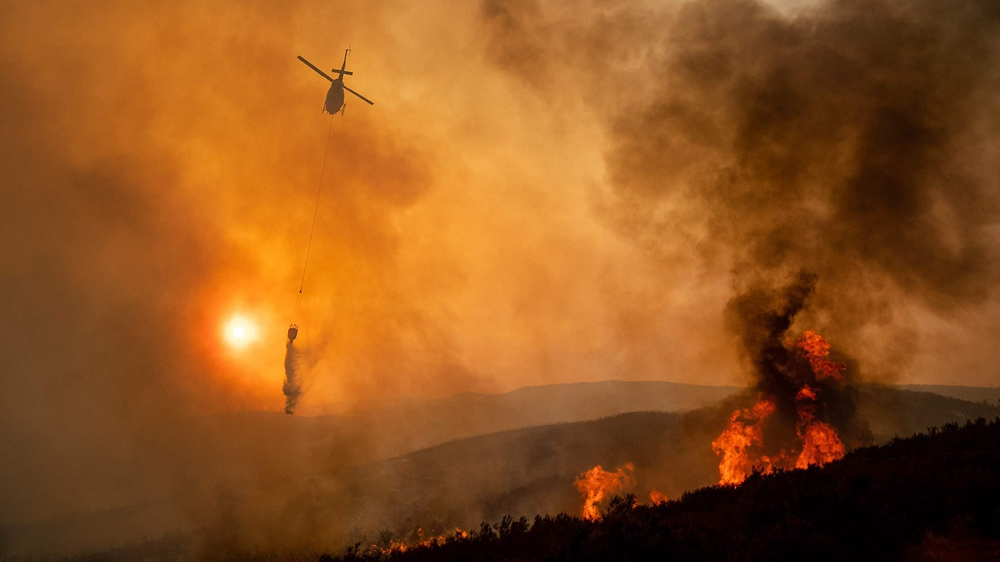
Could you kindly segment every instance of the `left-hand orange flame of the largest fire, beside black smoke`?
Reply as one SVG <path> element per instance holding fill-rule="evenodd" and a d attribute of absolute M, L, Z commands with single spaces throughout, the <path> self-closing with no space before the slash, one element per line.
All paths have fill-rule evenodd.
<path fill-rule="evenodd" d="M 736 410 L 729 416 L 729 427 L 712 441 L 712 450 L 722 455 L 719 462 L 719 484 L 739 484 L 754 467 L 748 449 L 764 440 L 761 422 L 774 412 L 774 402 L 763 397 L 752 408 Z"/>

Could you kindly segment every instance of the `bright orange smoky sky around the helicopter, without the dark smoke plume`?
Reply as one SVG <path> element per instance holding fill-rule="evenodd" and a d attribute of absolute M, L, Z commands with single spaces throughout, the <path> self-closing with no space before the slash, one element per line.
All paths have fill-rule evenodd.
<path fill-rule="evenodd" d="M 332 123 L 295 319 L 312 360 L 304 405 L 739 382 L 722 321 L 731 259 L 702 259 L 711 234 L 681 200 L 658 207 L 666 227 L 633 228 L 609 180 L 609 131 L 655 95 L 636 71 L 651 55 L 615 34 L 663 32 L 615 20 L 607 43 L 555 63 L 546 41 L 572 39 L 560 22 L 575 15 L 538 8 L 531 41 L 511 47 L 494 4 L 5 9 L 15 204 L 0 266 L 20 303 L 10 329 L 31 334 L 6 353 L 33 373 L 15 380 L 45 387 L 19 408 L 66 402 L 64 380 L 95 376 L 84 400 L 128 415 L 281 407 L 330 123 L 326 82 L 295 56 L 332 67 L 347 45 L 348 84 L 376 104 L 348 99 Z M 584 57 L 611 70 L 589 73 Z M 840 347 L 904 382 L 995 384 L 978 350 L 997 328 L 981 310 L 942 319 L 903 303 Z M 237 315 L 257 329 L 241 349 L 222 335 Z"/>

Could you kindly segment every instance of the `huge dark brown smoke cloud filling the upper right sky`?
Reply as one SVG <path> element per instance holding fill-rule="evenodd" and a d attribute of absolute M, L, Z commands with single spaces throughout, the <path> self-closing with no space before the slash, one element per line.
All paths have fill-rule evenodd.
<path fill-rule="evenodd" d="M 996 125 L 997 16 L 987 2 L 833 2 L 790 21 L 685 6 L 659 99 L 615 124 L 612 173 L 627 196 L 686 191 L 755 267 L 806 264 L 861 290 L 852 270 L 874 270 L 934 306 L 981 300 L 996 168 L 976 129 Z"/>

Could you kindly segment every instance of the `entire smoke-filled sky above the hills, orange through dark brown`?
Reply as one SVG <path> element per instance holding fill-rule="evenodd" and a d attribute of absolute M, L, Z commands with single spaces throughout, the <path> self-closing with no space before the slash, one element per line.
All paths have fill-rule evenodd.
<path fill-rule="evenodd" d="M 738 383 L 734 285 L 799 267 L 863 373 L 997 384 L 996 8 L 860 4 L 5 3 L 0 476 L 279 410 L 293 320 L 306 406 Z M 295 57 L 348 45 L 375 105 L 293 317 L 331 126 Z"/>

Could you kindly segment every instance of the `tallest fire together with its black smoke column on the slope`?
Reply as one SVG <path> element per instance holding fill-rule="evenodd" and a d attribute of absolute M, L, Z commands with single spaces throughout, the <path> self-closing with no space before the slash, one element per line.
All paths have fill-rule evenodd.
<path fill-rule="evenodd" d="M 730 325 L 757 400 L 736 409 L 712 442 L 721 456 L 720 484 L 739 484 L 754 470 L 806 468 L 842 458 L 840 431 L 855 444 L 871 439 L 855 417 L 847 365 L 830 360 L 830 344 L 815 331 L 788 336 L 815 285 L 814 275 L 800 272 L 782 288 L 758 284 L 729 304 Z"/>

